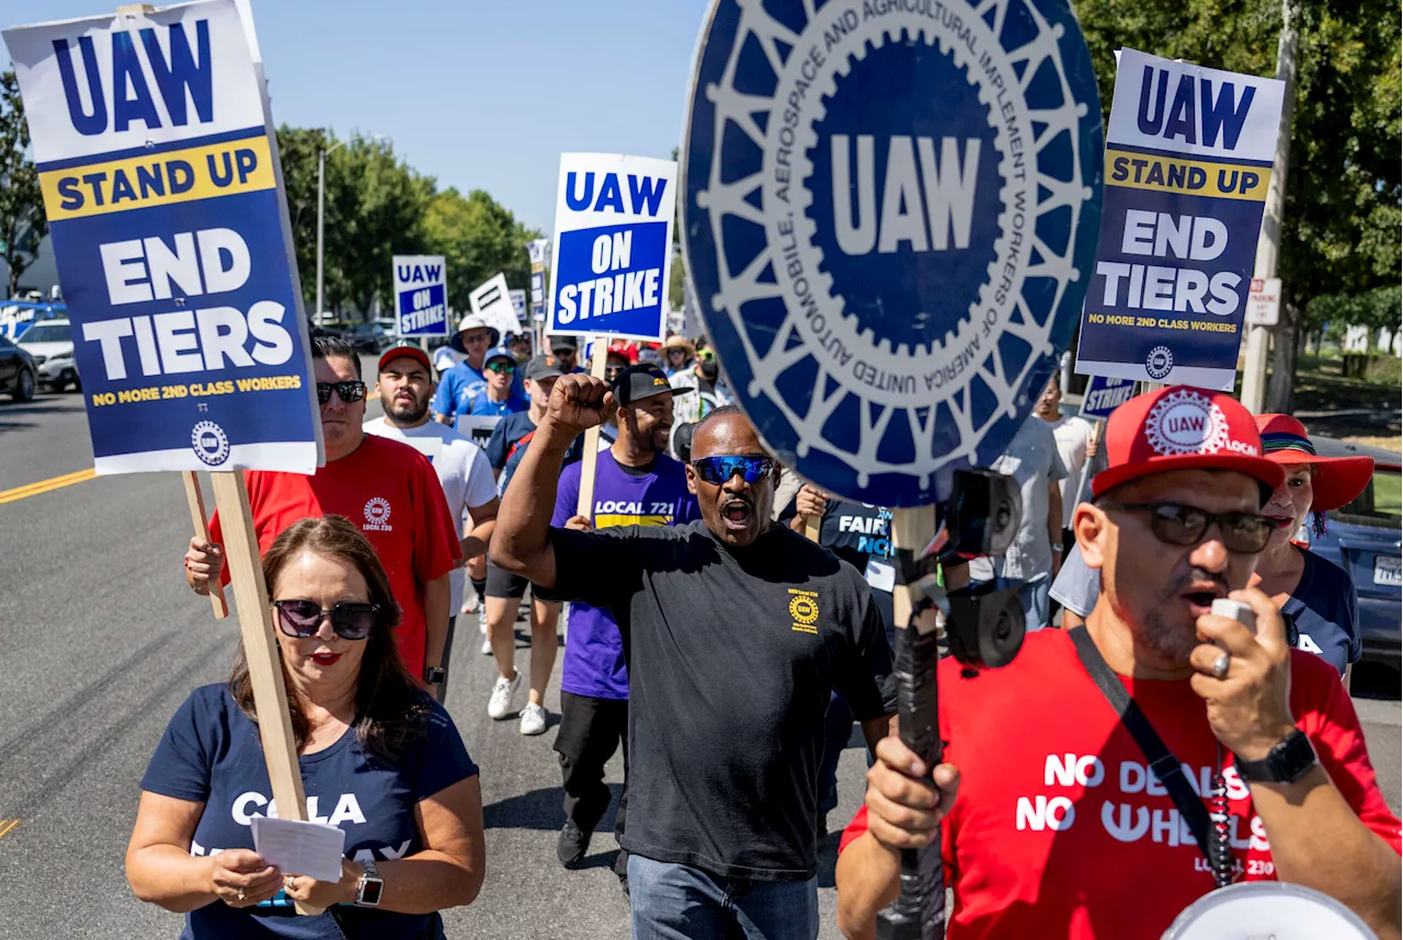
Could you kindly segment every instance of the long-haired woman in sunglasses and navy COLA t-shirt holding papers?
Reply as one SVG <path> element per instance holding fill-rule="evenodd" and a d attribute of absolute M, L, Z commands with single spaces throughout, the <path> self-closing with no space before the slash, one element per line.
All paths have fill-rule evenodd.
<path fill-rule="evenodd" d="M 286 529 L 262 564 L 307 815 L 344 832 L 341 877 L 279 870 L 255 849 L 254 822 L 276 812 L 240 652 L 229 683 L 192 692 L 152 756 L 132 889 L 184 912 L 187 937 L 442 937 L 438 911 L 483 885 L 483 800 L 453 720 L 400 659 L 384 568 L 335 515 Z M 325 908 L 325 923 L 299 918 L 293 899 Z"/>

